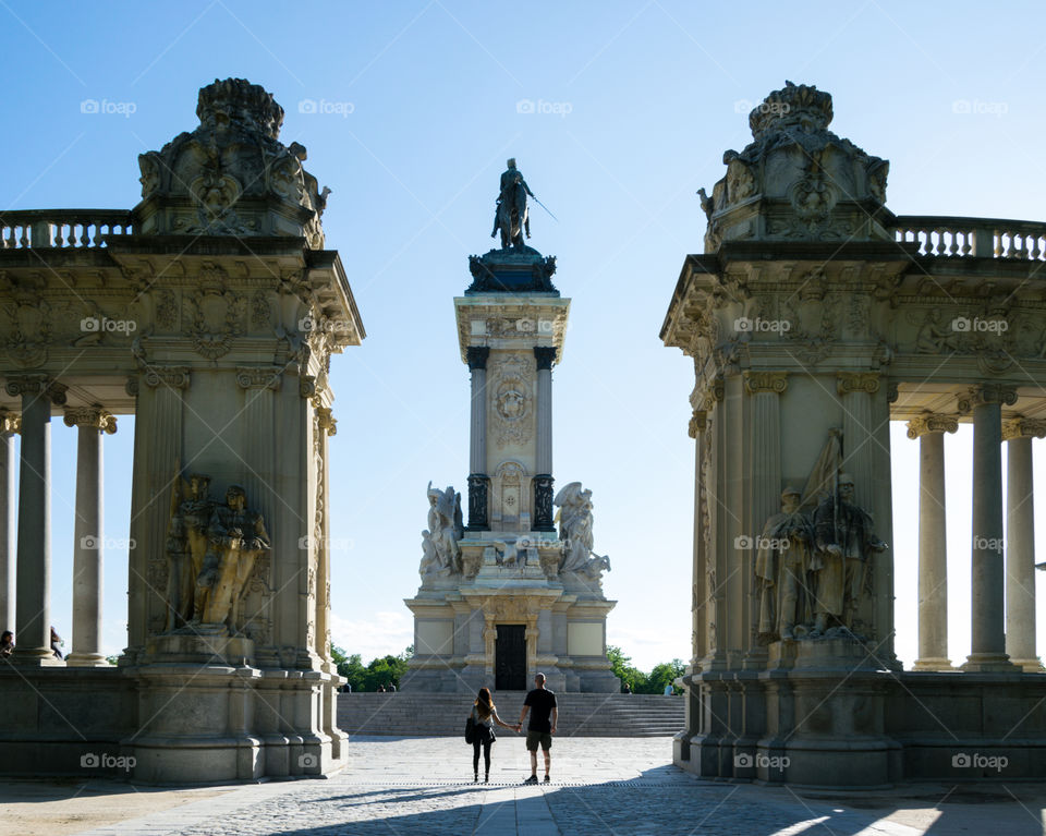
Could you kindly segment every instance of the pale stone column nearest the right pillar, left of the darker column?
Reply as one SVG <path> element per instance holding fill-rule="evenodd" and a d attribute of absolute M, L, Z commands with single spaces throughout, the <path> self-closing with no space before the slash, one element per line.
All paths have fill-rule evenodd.
<path fill-rule="evenodd" d="M 924 412 L 908 422 L 919 438 L 919 658 L 913 670 L 951 670 L 948 658 L 948 530 L 945 512 L 945 433 L 959 421 Z"/>

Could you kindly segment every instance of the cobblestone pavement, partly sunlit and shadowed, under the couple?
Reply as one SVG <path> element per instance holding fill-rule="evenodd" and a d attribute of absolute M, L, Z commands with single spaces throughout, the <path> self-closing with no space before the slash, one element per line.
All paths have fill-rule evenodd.
<path fill-rule="evenodd" d="M 557 739 L 552 782 L 523 786 L 523 741 L 494 746 L 489 785 L 472 784 L 472 750 L 447 738 L 355 738 L 328 780 L 243 787 L 84 836 L 1042 836 L 1046 788 L 919 785 L 831 798 L 697 780 L 671 765 L 671 741 Z M 483 765 L 481 763 L 481 772 Z M 539 774 L 543 766 L 539 763 Z"/>

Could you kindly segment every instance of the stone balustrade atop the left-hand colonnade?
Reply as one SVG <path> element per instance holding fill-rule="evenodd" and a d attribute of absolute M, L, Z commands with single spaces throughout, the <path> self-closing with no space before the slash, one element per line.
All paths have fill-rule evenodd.
<path fill-rule="evenodd" d="M 131 233 L 131 213 L 124 209 L 27 209 L 0 215 L 2 250 L 100 247 L 109 235 Z"/>

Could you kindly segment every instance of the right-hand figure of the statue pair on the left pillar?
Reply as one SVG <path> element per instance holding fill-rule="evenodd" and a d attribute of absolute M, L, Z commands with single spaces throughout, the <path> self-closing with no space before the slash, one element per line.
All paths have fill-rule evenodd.
<path fill-rule="evenodd" d="M 194 620 L 227 625 L 230 632 L 243 626 L 240 599 L 255 558 L 269 550 L 269 535 L 262 514 L 248 510 L 246 502 L 244 489 L 230 485 L 226 505 L 215 507 L 207 530 L 204 568 L 196 579 Z"/>

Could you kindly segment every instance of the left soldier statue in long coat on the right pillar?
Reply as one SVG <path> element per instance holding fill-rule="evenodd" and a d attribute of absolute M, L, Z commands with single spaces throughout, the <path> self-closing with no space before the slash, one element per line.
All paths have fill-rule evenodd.
<path fill-rule="evenodd" d="M 759 635 L 764 639 L 794 639 L 795 625 L 811 620 L 814 529 L 799 510 L 800 496 L 794 487 L 781 492 L 781 512 L 766 521 L 757 544 L 755 577 L 759 582 Z"/>

